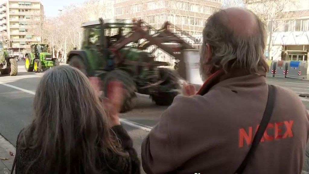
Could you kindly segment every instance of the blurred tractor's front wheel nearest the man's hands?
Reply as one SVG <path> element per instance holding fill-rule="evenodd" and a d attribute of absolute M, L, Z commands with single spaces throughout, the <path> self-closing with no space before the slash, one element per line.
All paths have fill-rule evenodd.
<path fill-rule="evenodd" d="M 171 70 L 166 68 L 159 68 L 159 80 L 165 80 L 161 83 L 167 90 L 180 89 L 178 83 L 178 78 Z M 156 105 L 159 106 L 169 106 L 172 104 L 174 98 L 179 94 L 177 91 L 171 92 L 158 92 L 157 94 L 152 94 L 151 98 L 155 101 Z"/>

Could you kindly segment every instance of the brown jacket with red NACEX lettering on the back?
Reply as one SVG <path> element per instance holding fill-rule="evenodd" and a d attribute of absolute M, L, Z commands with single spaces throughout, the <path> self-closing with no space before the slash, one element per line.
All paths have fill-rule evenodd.
<path fill-rule="evenodd" d="M 244 173 L 301 173 L 309 116 L 292 91 L 276 86 L 275 108 Z M 205 95 L 177 96 L 142 143 L 146 173 L 233 174 L 265 111 L 265 76 L 223 80 Z"/>

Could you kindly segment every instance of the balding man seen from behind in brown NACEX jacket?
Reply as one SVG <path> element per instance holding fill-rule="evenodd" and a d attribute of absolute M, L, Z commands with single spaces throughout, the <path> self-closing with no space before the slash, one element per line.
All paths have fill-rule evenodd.
<path fill-rule="evenodd" d="M 301 173 L 308 112 L 292 91 L 266 84 L 266 33 L 245 9 L 210 16 L 200 59 L 205 83 L 197 93 L 185 85 L 144 139 L 146 173 Z"/>

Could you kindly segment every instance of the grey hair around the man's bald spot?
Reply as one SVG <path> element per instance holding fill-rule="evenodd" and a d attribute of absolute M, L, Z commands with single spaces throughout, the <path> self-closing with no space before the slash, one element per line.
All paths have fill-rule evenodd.
<path fill-rule="evenodd" d="M 253 14 L 253 13 L 252 13 Z M 210 72 L 214 73 L 218 69 L 230 72 L 231 69 L 241 69 L 250 74 L 258 73 L 260 70 L 268 71 L 266 63 L 265 24 L 255 15 L 257 28 L 254 34 L 243 36 L 235 34 L 229 27 L 226 20 L 226 12 L 220 10 L 210 16 L 203 30 L 203 46 L 201 50 L 201 62 L 206 52 L 206 43 L 212 50 L 212 55 L 207 64 L 211 65 Z M 261 69 L 262 68 L 262 69 Z M 201 74 L 205 73 L 205 67 L 201 66 Z"/>

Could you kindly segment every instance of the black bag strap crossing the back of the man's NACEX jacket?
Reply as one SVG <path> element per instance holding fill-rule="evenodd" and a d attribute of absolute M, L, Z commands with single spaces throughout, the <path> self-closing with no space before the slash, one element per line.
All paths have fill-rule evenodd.
<path fill-rule="evenodd" d="M 276 91 L 275 87 L 273 85 L 268 85 L 268 99 L 267 99 L 267 104 L 266 108 L 264 111 L 263 118 L 261 120 L 260 126 L 256 131 L 256 134 L 253 138 L 251 148 L 249 149 L 248 154 L 246 155 L 245 159 L 243 162 L 240 164 L 238 169 L 236 170 L 235 174 L 242 174 L 244 169 L 246 168 L 250 157 L 253 155 L 254 151 L 256 150 L 257 145 L 260 143 L 260 140 L 262 136 L 264 135 L 264 132 L 266 130 L 266 127 L 269 123 L 270 117 L 273 114 L 273 107 L 274 107 L 274 102 L 276 98 Z"/>

